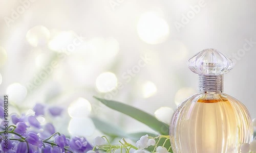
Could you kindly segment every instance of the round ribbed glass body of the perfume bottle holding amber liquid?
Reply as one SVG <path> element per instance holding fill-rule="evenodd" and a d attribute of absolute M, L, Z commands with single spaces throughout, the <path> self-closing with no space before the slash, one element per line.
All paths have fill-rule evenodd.
<path fill-rule="evenodd" d="M 174 153 L 238 153 L 253 139 L 248 110 L 224 93 L 189 97 L 174 112 L 169 131 Z"/>

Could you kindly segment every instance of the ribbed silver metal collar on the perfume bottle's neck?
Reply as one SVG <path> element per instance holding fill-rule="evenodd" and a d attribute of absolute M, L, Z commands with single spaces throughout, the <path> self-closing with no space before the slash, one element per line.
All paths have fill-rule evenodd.
<path fill-rule="evenodd" d="M 223 75 L 202 75 L 198 78 L 199 93 L 221 93 L 223 92 Z"/>

